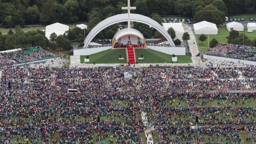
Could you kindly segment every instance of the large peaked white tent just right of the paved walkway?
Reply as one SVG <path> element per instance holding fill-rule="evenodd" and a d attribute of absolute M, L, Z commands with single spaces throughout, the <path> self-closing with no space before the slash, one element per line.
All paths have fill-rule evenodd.
<path fill-rule="evenodd" d="M 218 34 L 217 26 L 208 21 L 201 21 L 193 26 L 196 34 Z"/>

